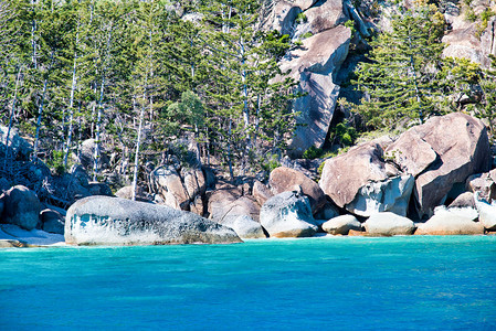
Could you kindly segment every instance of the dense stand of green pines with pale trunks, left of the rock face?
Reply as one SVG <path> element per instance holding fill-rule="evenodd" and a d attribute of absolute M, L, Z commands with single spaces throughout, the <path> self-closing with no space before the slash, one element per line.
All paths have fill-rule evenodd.
<path fill-rule="evenodd" d="M 128 180 L 184 151 L 231 177 L 281 153 L 294 83 L 276 65 L 287 36 L 261 31 L 256 1 L 1 0 L 0 122 L 34 137 L 33 160 L 68 169 L 95 140 Z M 194 13 L 189 14 L 189 10 Z"/>

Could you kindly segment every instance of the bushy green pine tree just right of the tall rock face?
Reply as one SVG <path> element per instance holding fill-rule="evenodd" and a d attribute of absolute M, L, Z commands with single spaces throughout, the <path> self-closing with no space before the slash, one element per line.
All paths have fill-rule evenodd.
<path fill-rule="evenodd" d="M 443 22 L 435 7 L 421 3 L 394 15 L 391 31 L 371 42 L 355 82 L 365 94 L 358 113 L 369 126 L 422 122 L 440 111 Z"/>

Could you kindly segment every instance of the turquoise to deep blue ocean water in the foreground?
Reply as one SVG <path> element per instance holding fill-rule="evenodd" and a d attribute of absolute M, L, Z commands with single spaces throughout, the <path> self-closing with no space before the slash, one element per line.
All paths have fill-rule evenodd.
<path fill-rule="evenodd" d="M 496 236 L 0 250 L 0 330 L 496 330 Z"/>

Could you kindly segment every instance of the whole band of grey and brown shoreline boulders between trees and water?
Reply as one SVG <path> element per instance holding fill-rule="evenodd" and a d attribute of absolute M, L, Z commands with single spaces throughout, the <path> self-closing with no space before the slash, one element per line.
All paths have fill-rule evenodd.
<path fill-rule="evenodd" d="M 226 244 L 317 233 L 493 234 L 493 166 L 484 124 L 456 113 L 327 159 L 318 183 L 279 167 L 266 182 L 233 185 L 209 170 L 169 163 L 151 172 L 154 189 L 140 192 L 143 201 L 125 199 L 129 188 L 102 195 L 112 191 L 93 183 L 101 190 L 76 199 L 68 211 L 15 185 L 0 196 L 0 247 Z M 74 169 L 72 175 L 84 177 Z"/>

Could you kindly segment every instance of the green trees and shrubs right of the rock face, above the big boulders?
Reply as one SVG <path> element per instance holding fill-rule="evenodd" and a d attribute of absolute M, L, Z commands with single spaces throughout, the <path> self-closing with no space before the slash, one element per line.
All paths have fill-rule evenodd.
<path fill-rule="evenodd" d="M 363 116 L 368 129 L 389 130 L 432 115 L 467 111 L 485 119 L 494 135 L 495 72 L 468 60 L 443 57 L 443 14 L 428 1 L 415 3 L 411 9 L 400 6 L 390 31 L 370 43 L 367 62 L 356 72 L 355 83 L 365 97 L 355 111 Z"/>

